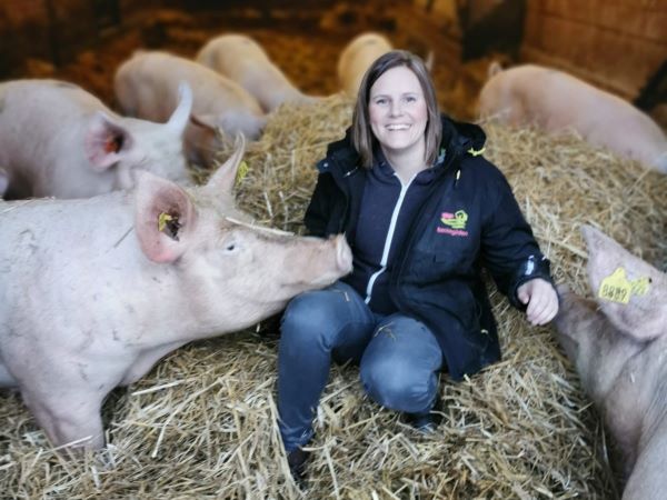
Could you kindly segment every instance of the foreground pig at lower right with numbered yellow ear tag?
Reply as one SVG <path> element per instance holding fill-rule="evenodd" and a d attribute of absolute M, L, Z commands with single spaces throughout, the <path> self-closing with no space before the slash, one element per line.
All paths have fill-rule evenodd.
<path fill-rule="evenodd" d="M 590 227 L 595 301 L 561 288 L 558 339 L 623 454 L 624 500 L 667 491 L 667 276 Z"/>

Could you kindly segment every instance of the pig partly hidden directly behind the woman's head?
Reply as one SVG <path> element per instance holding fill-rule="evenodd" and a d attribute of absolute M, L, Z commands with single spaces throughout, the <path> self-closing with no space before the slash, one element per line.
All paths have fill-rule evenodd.
<path fill-rule="evenodd" d="M 367 32 L 354 38 L 338 58 L 338 81 L 345 94 L 356 97 L 366 70 L 390 50 L 391 42 L 380 33 Z"/>

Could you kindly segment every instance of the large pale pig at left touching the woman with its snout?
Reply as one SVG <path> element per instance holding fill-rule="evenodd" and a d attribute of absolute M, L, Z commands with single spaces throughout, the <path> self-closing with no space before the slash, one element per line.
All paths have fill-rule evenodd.
<path fill-rule="evenodd" d="M 111 389 L 350 271 L 342 236 L 239 221 L 242 152 L 188 190 L 141 173 L 132 192 L 0 202 L 0 386 L 20 389 L 53 444 L 103 446 Z"/>

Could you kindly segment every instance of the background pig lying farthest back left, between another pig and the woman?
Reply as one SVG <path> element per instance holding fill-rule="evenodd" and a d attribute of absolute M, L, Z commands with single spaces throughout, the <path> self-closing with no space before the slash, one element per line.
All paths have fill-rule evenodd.
<path fill-rule="evenodd" d="M 321 98 L 306 96 L 271 62 L 265 50 L 245 34 L 222 34 L 207 42 L 195 58 L 252 94 L 268 113 L 283 102 L 309 104 Z"/>

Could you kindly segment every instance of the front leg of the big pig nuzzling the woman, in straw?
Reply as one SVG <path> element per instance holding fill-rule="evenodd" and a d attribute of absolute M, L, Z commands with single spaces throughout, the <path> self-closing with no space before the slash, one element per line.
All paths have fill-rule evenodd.
<path fill-rule="evenodd" d="M 59 384 L 67 387 L 66 380 Z M 104 446 L 104 431 L 100 408 L 102 400 L 93 392 L 68 389 L 53 390 L 51 394 L 23 388 L 21 396 L 38 424 L 56 447 L 77 442 L 74 448 L 98 449 Z"/>

